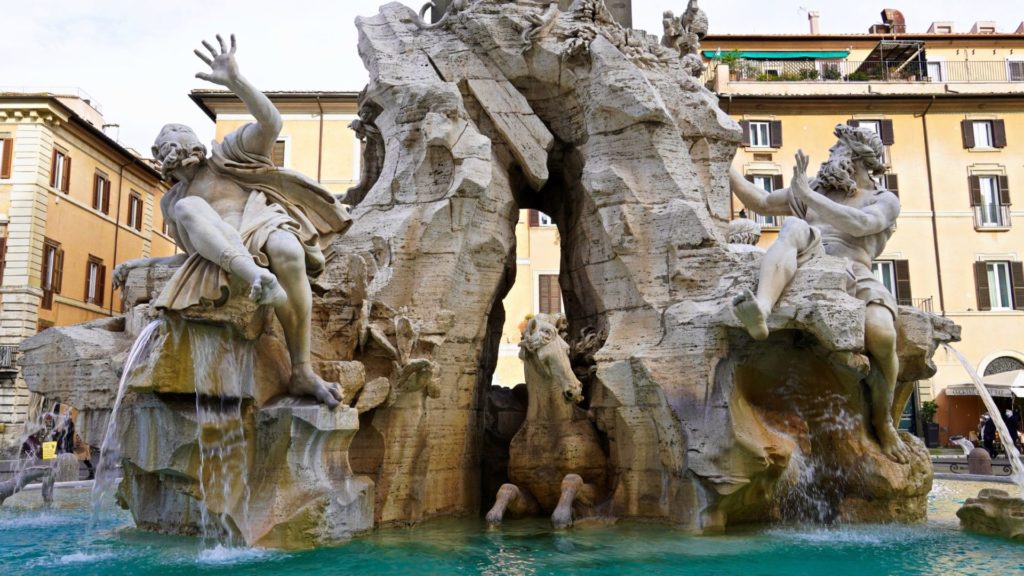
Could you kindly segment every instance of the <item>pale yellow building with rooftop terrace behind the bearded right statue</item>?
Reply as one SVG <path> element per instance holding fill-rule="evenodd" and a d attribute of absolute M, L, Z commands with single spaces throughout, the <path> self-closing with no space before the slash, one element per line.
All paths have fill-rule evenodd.
<path fill-rule="evenodd" d="M 901 304 L 959 324 L 955 347 L 989 376 L 1024 369 L 1024 27 L 980 32 L 990 24 L 966 34 L 948 23 L 893 34 L 885 23 L 885 34 L 703 41 L 709 86 L 744 128 L 733 166 L 767 190 L 788 186 L 798 149 L 816 169 L 837 124 L 880 133 L 879 184 L 899 195 L 902 211 L 876 275 Z M 781 219 L 734 198 L 740 211 L 762 223 L 761 245 L 770 245 Z M 940 349 L 935 362 L 916 402 L 937 402 L 945 444 L 970 437 L 984 409 L 952 354 Z M 1019 407 L 1010 387 L 990 389 L 1000 410 Z"/>

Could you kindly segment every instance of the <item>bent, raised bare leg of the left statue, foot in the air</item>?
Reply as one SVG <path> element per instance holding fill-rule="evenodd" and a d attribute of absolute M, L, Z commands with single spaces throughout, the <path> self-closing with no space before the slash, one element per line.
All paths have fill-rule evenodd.
<path fill-rule="evenodd" d="M 204 258 L 238 276 L 251 286 L 249 296 L 257 303 L 276 306 L 287 298 L 278 278 L 253 260 L 239 231 L 202 198 L 189 196 L 174 205 L 174 219 L 188 231 L 188 240 Z"/>

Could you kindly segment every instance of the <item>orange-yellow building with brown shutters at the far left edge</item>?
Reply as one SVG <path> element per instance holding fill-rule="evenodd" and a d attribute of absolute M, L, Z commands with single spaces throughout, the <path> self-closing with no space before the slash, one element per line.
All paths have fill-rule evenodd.
<path fill-rule="evenodd" d="M 0 448 L 28 404 L 14 352 L 37 331 L 121 312 L 114 266 L 175 252 L 167 187 L 80 95 L 0 93 Z"/>

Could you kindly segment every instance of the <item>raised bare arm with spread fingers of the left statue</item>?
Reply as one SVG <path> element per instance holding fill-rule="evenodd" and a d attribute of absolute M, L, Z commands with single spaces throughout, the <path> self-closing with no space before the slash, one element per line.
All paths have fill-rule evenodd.
<path fill-rule="evenodd" d="M 273 143 L 278 140 L 278 134 L 281 133 L 281 113 L 263 92 L 257 90 L 239 73 L 239 65 L 234 60 L 238 44 L 233 34 L 230 38 L 231 47 L 228 48 L 224 39 L 219 34 L 217 35 L 217 42 L 220 44 L 219 51 L 213 44 L 204 40 L 203 46 L 210 52 L 210 55 L 201 50 L 194 50 L 196 55 L 210 67 L 210 73 L 200 72 L 196 78 L 220 84 L 242 98 L 246 108 L 256 118 L 256 123 L 247 125 L 249 127 L 242 132 L 242 146 L 248 152 L 270 156 Z"/>

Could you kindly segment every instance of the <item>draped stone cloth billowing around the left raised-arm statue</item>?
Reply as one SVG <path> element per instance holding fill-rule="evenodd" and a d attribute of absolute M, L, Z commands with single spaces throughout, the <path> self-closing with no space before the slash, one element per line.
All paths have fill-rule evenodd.
<path fill-rule="evenodd" d="M 269 265 L 264 251 L 267 239 L 276 231 L 294 234 L 306 254 L 306 275 L 315 278 L 333 256 L 331 241 L 351 223 L 348 208 L 330 192 L 306 176 L 279 168 L 266 156 L 243 148 L 242 134 L 253 124 L 246 124 L 214 142 L 208 167 L 250 191 L 239 224 L 242 242 L 256 262 Z M 201 256 L 193 247 L 188 231 L 174 219 L 174 205 L 188 196 L 188 183 L 178 182 L 164 195 L 161 210 L 164 219 L 188 258 L 164 287 L 154 305 L 158 308 L 184 310 L 188 306 L 221 305 L 230 295 L 227 273 L 216 262 Z"/>

